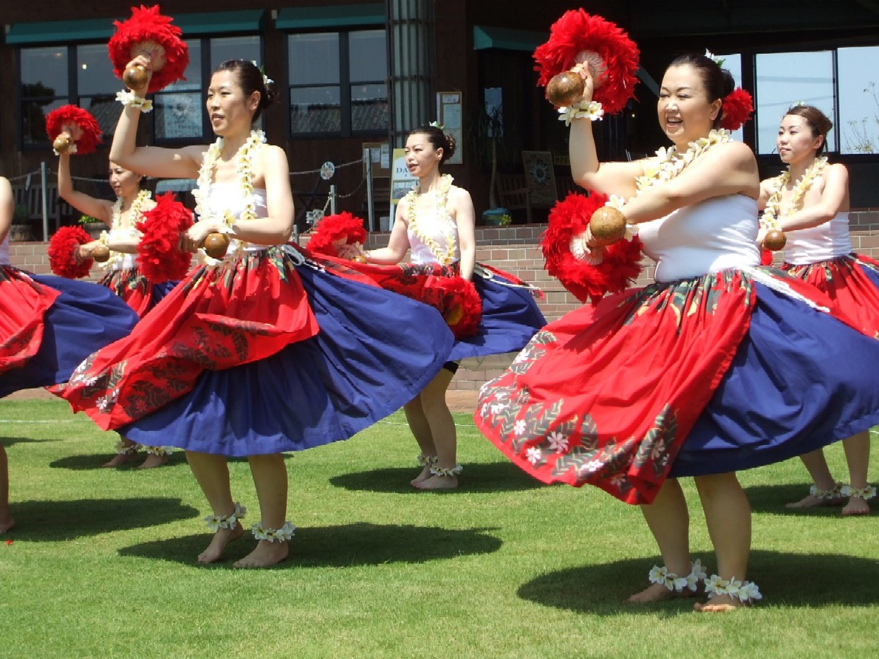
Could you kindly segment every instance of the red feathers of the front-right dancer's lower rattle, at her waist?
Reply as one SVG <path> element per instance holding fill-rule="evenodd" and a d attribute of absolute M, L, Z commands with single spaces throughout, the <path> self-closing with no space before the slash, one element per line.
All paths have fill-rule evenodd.
<path fill-rule="evenodd" d="M 604 206 L 607 196 L 592 192 L 589 197 L 576 192 L 549 211 L 548 228 L 541 248 L 546 269 L 581 302 L 598 304 L 605 293 L 619 293 L 641 273 L 641 241 L 620 240 L 603 249 L 604 260 L 586 264 L 570 253 L 570 239 L 582 234 L 592 213 Z"/>

